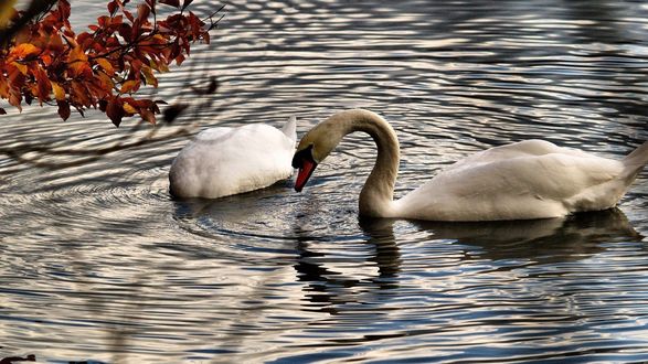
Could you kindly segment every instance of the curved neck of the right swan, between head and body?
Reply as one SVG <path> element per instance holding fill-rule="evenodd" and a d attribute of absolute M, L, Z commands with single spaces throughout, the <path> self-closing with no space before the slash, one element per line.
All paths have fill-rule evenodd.
<path fill-rule="evenodd" d="M 393 215 L 393 196 L 399 174 L 400 148 L 394 129 L 379 115 L 367 110 L 338 114 L 343 135 L 353 131 L 369 133 L 378 146 L 378 158 L 360 192 L 360 215 L 390 217 Z"/>

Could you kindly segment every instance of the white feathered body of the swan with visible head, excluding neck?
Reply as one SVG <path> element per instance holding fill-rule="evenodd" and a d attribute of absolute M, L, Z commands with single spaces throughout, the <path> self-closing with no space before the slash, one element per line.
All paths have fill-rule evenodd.
<path fill-rule="evenodd" d="M 450 165 L 396 206 L 405 217 L 423 220 L 557 217 L 613 207 L 635 175 L 624 161 L 528 140 Z"/>

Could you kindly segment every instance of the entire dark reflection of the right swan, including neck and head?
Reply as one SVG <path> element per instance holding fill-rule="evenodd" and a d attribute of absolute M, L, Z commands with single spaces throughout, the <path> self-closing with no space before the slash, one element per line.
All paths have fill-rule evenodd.
<path fill-rule="evenodd" d="M 308 282 L 304 288 L 305 296 L 310 302 L 325 306 L 322 310 L 331 313 L 338 312 L 339 304 L 351 301 L 384 302 L 389 296 L 397 296 L 402 285 L 400 274 L 407 264 L 399 244 L 412 243 L 411 235 L 415 234 L 396 236 L 395 224 L 399 224 L 397 231 L 403 224 L 411 224 L 419 232 L 429 233 L 418 243 L 434 245 L 435 240 L 450 239 L 456 243 L 453 244 L 453 251 L 461 250 L 459 256 L 464 260 L 487 259 L 493 263 L 507 259 L 535 264 L 578 260 L 605 250 L 606 243 L 642 239 L 617 208 L 534 221 L 436 223 L 378 218 L 360 220 L 359 223 L 372 253 L 367 254 L 364 261 L 359 261 L 358 266 L 362 267 L 367 261 L 375 263 L 378 275 L 372 279 L 336 271 L 334 261 L 339 256 L 315 251 L 318 243 L 309 240 L 306 235 L 297 244 L 299 256 L 295 270 L 299 281 Z M 389 292 L 389 289 L 395 291 Z M 363 296 L 349 293 L 360 290 Z"/>

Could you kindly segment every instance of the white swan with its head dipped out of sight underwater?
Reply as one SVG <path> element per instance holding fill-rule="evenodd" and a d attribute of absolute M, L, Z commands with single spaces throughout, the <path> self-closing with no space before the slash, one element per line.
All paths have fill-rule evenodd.
<path fill-rule="evenodd" d="M 177 197 L 216 199 L 266 188 L 289 178 L 296 118 L 277 128 L 252 124 L 200 132 L 171 164 L 169 190 Z"/>

